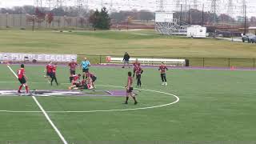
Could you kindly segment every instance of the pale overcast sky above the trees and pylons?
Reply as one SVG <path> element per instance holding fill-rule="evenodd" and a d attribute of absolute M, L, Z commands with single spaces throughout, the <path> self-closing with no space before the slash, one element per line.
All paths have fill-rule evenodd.
<path fill-rule="evenodd" d="M 38 0 L 40 2 L 40 0 Z M 48 2 L 47 2 L 48 1 Z M 51 1 L 50 6 L 56 6 L 56 0 L 42 0 L 42 6 L 49 6 L 49 1 Z M 55 2 L 54 2 L 55 1 Z M 63 6 L 77 6 L 75 2 L 77 0 L 62 0 L 66 1 Z M 91 9 L 101 8 L 101 6 L 106 6 L 108 9 L 113 10 L 159 10 L 158 2 L 159 0 L 83 0 L 83 6 L 89 6 Z M 164 0 L 164 7 L 166 11 L 180 10 L 177 8 L 178 0 Z M 180 0 L 182 6 L 194 7 L 194 0 Z M 228 11 L 228 0 L 217 0 L 217 10 L 218 13 L 227 13 Z M 242 15 L 242 1 L 243 0 L 233 0 L 233 15 Z M 246 0 L 246 5 L 248 7 L 247 13 L 249 16 L 256 16 L 256 0 Z M 112 4 L 112 5 L 111 5 Z M 34 0 L 0 0 L 0 7 L 12 7 L 12 6 L 24 6 L 24 5 L 35 5 Z M 210 0 L 197 0 L 197 8 L 202 10 L 210 10 L 211 2 Z M 183 7 L 183 10 L 185 8 Z"/>

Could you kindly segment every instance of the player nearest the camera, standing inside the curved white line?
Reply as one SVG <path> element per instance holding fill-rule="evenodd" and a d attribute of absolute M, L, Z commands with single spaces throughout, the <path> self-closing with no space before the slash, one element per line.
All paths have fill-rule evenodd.
<path fill-rule="evenodd" d="M 125 86 L 126 87 L 126 102 L 124 102 L 124 104 L 128 104 L 128 99 L 129 99 L 129 96 L 131 98 L 134 99 L 134 105 L 137 105 L 137 100 L 135 98 L 135 94 L 133 93 L 133 78 L 131 77 L 131 72 L 129 71 L 128 72 L 128 80 L 127 80 L 127 85 Z"/>

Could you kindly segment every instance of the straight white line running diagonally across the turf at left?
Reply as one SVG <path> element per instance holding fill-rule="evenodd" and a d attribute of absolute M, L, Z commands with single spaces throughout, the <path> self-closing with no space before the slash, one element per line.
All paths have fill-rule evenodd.
<path fill-rule="evenodd" d="M 8 68 L 10 69 L 10 71 L 14 74 L 14 76 L 15 76 L 16 78 L 18 78 L 17 74 L 14 73 L 14 70 L 12 70 L 12 69 L 10 68 L 10 66 L 7 66 L 7 67 L 8 67 Z M 61 133 L 61 132 L 58 130 L 58 128 L 54 125 L 54 122 L 51 121 L 49 115 L 46 113 L 46 110 L 44 110 L 44 109 L 42 108 L 42 106 L 41 106 L 41 104 L 38 102 L 37 98 L 35 98 L 34 96 L 32 96 L 32 98 L 34 99 L 34 102 L 36 102 L 36 104 L 38 105 L 38 107 L 40 108 L 40 110 L 42 110 L 42 114 L 45 115 L 45 117 L 46 117 L 46 119 L 48 120 L 48 122 L 50 123 L 50 125 L 54 128 L 55 132 L 58 134 L 59 138 L 62 139 L 62 142 L 63 142 L 64 144 L 68 144 L 68 142 L 66 142 L 66 139 L 62 136 L 62 133 Z"/>

